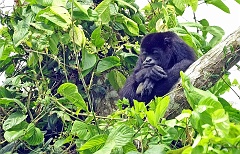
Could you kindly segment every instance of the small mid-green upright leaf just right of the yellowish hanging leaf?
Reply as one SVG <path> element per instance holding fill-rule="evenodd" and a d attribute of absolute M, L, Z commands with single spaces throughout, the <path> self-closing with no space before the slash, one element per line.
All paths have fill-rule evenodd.
<path fill-rule="evenodd" d="M 100 48 L 105 43 L 105 40 L 101 38 L 101 27 L 96 28 L 91 35 L 91 42 L 97 47 Z"/>

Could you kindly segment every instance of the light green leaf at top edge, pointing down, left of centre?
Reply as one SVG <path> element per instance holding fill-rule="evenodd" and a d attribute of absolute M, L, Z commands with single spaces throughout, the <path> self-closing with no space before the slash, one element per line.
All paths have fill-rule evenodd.
<path fill-rule="evenodd" d="M 101 22 L 107 24 L 110 21 L 110 8 L 109 5 L 112 0 L 103 0 L 96 8 L 95 11 L 98 13 Z"/>

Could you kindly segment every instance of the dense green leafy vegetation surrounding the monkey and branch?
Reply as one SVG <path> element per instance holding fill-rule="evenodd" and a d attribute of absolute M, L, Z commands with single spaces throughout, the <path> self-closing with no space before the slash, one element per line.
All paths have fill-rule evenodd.
<path fill-rule="evenodd" d="M 152 0 L 141 11 L 134 0 L 19 0 L 1 12 L 0 153 L 240 153 L 239 111 L 221 98 L 239 86 L 227 72 L 208 91 L 181 73 L 192 110 L 174 119 L 164 118 L 168 96 L 125 109 L 116 97 L 116 110 L 98 111 L 109 104 L 98 96 L 116 94 L 131 73 L 145 34 L 174 31 L 198 57 L 221 41 L 205 19 L 178 22 L 198 3 Z M 204 3 L 229 13 L 221 0 Z"/>

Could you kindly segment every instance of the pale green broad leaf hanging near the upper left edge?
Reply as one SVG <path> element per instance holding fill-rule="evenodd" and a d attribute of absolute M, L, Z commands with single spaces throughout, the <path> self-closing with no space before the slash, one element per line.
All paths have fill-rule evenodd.
<path fill-rule="evenodd" d="M 16 47 L 28 38 L 30 35 L 28 29 L 29 25 L 24 20 L 19 21 L 18 24 L 14 26 L 13 43 Z"/>

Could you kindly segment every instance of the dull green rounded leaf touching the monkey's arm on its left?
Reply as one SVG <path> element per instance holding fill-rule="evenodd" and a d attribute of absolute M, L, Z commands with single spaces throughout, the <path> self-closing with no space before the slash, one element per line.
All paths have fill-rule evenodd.
<path fill-rule="evenodd" d="M 110 84 L 114 87 L 115 90 L 121 89 L 126 82 L 126 77 L 117 70 L 112 70 L 109 72 L 107 77 Z"/>

